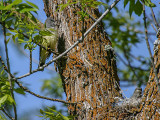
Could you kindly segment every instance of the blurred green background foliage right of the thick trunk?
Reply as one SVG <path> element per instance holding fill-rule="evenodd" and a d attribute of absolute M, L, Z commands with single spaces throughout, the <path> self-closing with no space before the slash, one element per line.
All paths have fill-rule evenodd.
<path fill-rule="evenodd" d="M 124 7 L 126 7 L 129 2 L 131 4 L 133 1 L 125 0 Z M 137 0 L 136 2 L 140 1 Z M 138 48 L 138 44 L 143 42 L 142 38 L 144 33 L 142 31 L 143 23 L 138 20 L 134 22 L 135 19 L 131 17 L 130 4 L 128 5 L 129 12 L 124 13 L 123 11 L 124 14 L 121 14 L 122 11 L 115 7 L 116 15 L 115 12 L 111 11 L 103 20 L 107 33 L 109 33 L 108 35 L 112 41 L 112 46 L 117 52 L 117 64 L 121 65 L 118 67 L 120 80 L 137 83 L 141 86 L 147 83 L 150 61 L 145 55 L 133 55 L 132 53 L 133 47 L 136 49 Z M 137 15 L 141 15 L 142 7 L 136 7 L 137 6 L 133 7 L 134 12 L 136 13 L 135 9 L 139 9 L 140 12 L 137 12 Z M 130 16 L 128 16 L 128 13 Z"/>

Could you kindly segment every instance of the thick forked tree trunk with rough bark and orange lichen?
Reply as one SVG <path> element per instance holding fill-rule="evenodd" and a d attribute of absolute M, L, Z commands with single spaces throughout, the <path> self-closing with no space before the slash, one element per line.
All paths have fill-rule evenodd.
<path fill-rule="evenodd" d="M 43 0 L 45 12 L 59 25 L 57 51 L 64 52 L 82 36 L 82 22 L 79 21 L 79 5 L 68 6 L 56 11 L 59 4 L 67 0 Z M 90 9 L 89 14 L 99 17 L 97 9 Z M 85 31 L 94 23 L 85 19 Z M 112 50 L 105 50 L 110 45 L 102 23 L 97 25 L 82 43 L 72 49 L 65 57 L 57 61 L 57 68 L 63 81 L 68 102 L 68 111 L 78 120 L 90 119 L 156 119 L 160 117 L 160 96 L 154 81 L 153 70 L 144 91 L 142 103 L 130 110 L 116 109 L 115 97 L 121 97 L 116 61 Z M 156 58 L 156 56 L 155 56 Z M 157 63 L 158 63 L 158 57 Z M 158 65 L 156 65 L 158 66 Z M 159 74 L 158 74 L 159 75 Z"/>

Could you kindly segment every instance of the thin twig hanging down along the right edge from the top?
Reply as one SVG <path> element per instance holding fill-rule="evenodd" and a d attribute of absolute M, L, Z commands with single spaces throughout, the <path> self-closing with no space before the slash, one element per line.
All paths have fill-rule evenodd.
<path fill-rule="evenodd" d="M 157 70 L 156 70 L 155 65 L 154 65 L 154 61 L 153 61 L 150 45 L 149 45 L 149 42 L 148 42 L 148 34 L 147 34 L 148 31 L 147 31 L 147 22 L 146 22 L 146 13 L 145 13 L 144 0 L 143 0 L 143 17 L 144 17 L 143 20 L 144 20 L 144 27 L 145 27 L 145 40 L 146 40 L 147 48 L 148 48 L 148 51 L 149 51 L 150 60 L 151 60 L 152 67 L 153 67 L 153 72 L 155 74 L 156 84 L 157 84 L 158 90 L 160 91 L 159 80 L 158 80 L 158 76 L 157 76 Z"/>

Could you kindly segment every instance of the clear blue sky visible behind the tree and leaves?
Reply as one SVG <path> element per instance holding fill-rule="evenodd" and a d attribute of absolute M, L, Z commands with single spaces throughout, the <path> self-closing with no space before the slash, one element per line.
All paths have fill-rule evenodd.
<path fill-rule="evenodd" d="M 38 7 L 39 7 L 39 11 L 38 11 L 38 16 L 37 18 L 41 21 L 41 22 L 45 22 L 46 19 L 46 15 L 45 12 L 43 11 L 43 1 L 42 0 L 29 0 L 33 3 L 35 3 Z M 122 3 L 118 3 L 118 6 L 121 7 Z M 122 7 L 123 8 L 123 7 Z M 141 19 L 138 18 L 137 19 Z M 144 39 L 144 38 L 143 38 Z M 153 38 L 155 39 L 155 38 Z M 2 49 L 4 50 L 4 43 L 1 40 L 0 44 L 2 44 Z M 17 76 L 21 76 L 23 74 L 28 73 L 29 71 L 29 58 L 25 57 L 24 55 L 20 54 L 17 51 L 17 48 L 15 45 L 13 45 L 13 43 L 9 43 L 9 57 L 10 57 L 10 63 L 11 63 L 11 72 L 18 72 Z M 153 48 L 153 47 L 152 47 Z M 27 50 L 25 50 L 26 53 L 28 53 Z M 141 52 L 141 53 L 140 53 Z M 139 54 L 146 54 L 146 56 L 148 56 L 148 51 L 145 45 L 145 42 L 143 42 L 142 44 L 139 45 L 139 49 L 135 48 L 134 49 L 134 54 L 135 53 L 139 53 Z M 2 52 L 0 52 L 0 55 L 2 54 Z M 3 52 L 3 55 L 4 52 Z M 33 52 L 33 58 L 36 59 L 37 61 L 39 60 L 39 50 L 36 49 Z M 33 63 L 33 69 L 37 68 L 37 64 Z M 51 67 L 54 69 L 54 65 L 51 64 Z M 53 72 L 53 74 L 50 74 L 48 70 L 44 70 L 44 72 L 38 72 L 35 73 L 27 78 L 21 79 L 19 81 L 23 82 L 23 85 L 28 86 L 28 88 L 37 93 L 37 94 L 42 94 L 40 91 L 40 88 L 42 86 L 42 79 L 50 79 L 53 76 L 56 76 L 57 73 Z M 125 84 L 125 83 L 123 83 Z M 129 88 L 122 88 L 122 90 L 124 90 L 124 94 L 127 97 L 130 97 L 135 89 L 136 85 L 133 85 L 132 87 Z M 144 87 L 143 87 L 144 88 Z M 39 99 L 36 98 L 35 96 L 32 96 L 30 94 L 26 94 L 26 96 L 22 96 L 22 95 L 15 95 L 16 97 L 16 103 L 17 103 L 17 109 L 18 109 L 18 113 L 27 113 L 30 110 L 37 110 L 40 109 L 42 106 L 50 106 L 53 104 L 56 104 L 58 107 L 60 107 L 60 104 L 57 102 L 51 102 L 48 100 L 43 100 L 43 99 Z M 64 96 L 64 100 L 65 100 L 65 96 Z M 38 113 L 37 113 L 38 115 Z M 32 119 L 34 120 L 41 120 L 41 118 L 39 118 L 38 116 L 34 116 Z"/>

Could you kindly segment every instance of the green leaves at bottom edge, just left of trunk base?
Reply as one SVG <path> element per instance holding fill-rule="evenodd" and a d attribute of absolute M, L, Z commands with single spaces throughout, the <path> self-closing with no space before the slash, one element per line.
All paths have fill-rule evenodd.
<path fill-rule="evenodd" d="M 72 116 L 64 116 L 62 115 L 60 112 L 57 112 L 56 110 L 49 108 L 47 109 L 47 111 L 43 111 L 40 109 L 40 113 L 43 116 L 39 116 L 42 117 L 42 120 L 72 120 L 73 117 Z"/>

